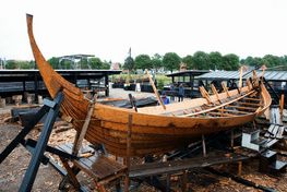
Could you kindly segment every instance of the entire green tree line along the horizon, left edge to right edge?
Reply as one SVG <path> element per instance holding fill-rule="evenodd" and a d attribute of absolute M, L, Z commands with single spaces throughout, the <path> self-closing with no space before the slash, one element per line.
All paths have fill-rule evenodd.
<path fill-rule="evenodd" d="M 48 60 L 53 69 L 110 69 L 111 61 L 101 61 L 97 57 L 82 58 L 80 61 L 59 59 L 52 57 Z M 167 52 L 164 56 L 155 53 L 150 57 L 148 55 L 139 55 L 134 59 L 129 56 L 122 69 L 130 71 L 154 69 L 158 71 L 175 71 L 179 70 L 180 63 L 186 63 L 189 70 L 238 70 L 242 64 L 258 67 L 265 64 L 268 69 L 285 69 L 287 67 L 287 56 L 278 57 L 266 55 L 264 57 L 247 57 L 239 59 L 235 53 L 222 55 L 218 51 L 204 52 L 196 51 L 193 55 L 188 55 L 183 58 L 179 57 L 176 52 Z M 8 60 L 5 61 L 5 69 L 36 69 L 35 61 L 20 61 Z"/>

